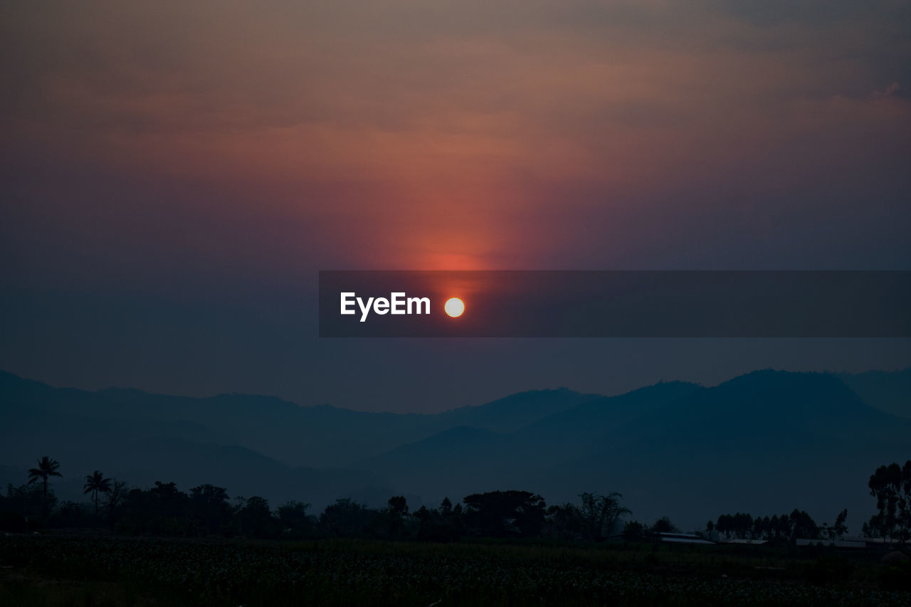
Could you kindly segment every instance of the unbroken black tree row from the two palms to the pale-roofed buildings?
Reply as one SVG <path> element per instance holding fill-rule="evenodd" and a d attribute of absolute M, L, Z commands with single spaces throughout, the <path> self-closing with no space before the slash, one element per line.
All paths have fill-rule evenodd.
<path fill-rule="evenodd" d="M 61 476 L 56 460 L 42 458 L 29 470 L 29 482 L 8 485 L 0 495 L 0 526 L 5 530 L 47 527 L 97 527 L 131 535 L 181 537 L 245 536 L 252 538 L 362 537 L 449 541 L 467 535 L 495 538 L 549 536 L 567 540 L 602 540 L 618 528 L 629 509 L 620 495 L 583 493 L 578 504 L 548 508 L 529 491 L 489 491 L 466 496 L 461 503 L 445 498 L 438 508 L 414 511 L 403 496 L 390 498 L 384 508 L 370 508 L 353 499 L 337 499 L 322 513 L 310 504 L 289 501 L 272 510 L 269 501 L 254 496 L 230 499 L 228 490 L 200 485 L 181 491 L 173 482 L 129 488 L 99 470 L 87 475 L 84 491 L 91 506 L 57 503 L 48 488 Z M 39 482 L 40 481 L 40 482 Z"/>

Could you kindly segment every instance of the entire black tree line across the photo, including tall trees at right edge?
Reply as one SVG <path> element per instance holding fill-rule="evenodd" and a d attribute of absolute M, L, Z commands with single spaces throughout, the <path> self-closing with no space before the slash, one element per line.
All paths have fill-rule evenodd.
<path fill-rule="evenodd" d="M 181 491 L 173 482 L 154 487 L 130 487 L 122 479 L 99 471 L 85 477 L 83 491 L 91 505 L 58 503 L 50 483 L 61 477 L 59 462 L 43 457 L 28 469 L 26 484 L 0 494 L 0 529 L 38 527 L 98 527 L 132 535 L 183 537 L 246 536 L 253 538 L 363 537 L 449 541 L 466 536 L 493 538 L 549 538 L 599 541 L 611 537 L 649 540 L 662 532 L 676 532 L 667 517 L 645 525 L 623 520 L 630 509 L 619 493 L 582 493 L 578 502 L 551 505 L 535 493 L 521 490 L 488 491 L 466 496 L 460 503 L 445 498 L 437 508 L 409 509 L 403 496 L 394 496 L 384 508 L 370 508 L 353 499 L 338 499 L 319 514 L 311 505 L 289 501 L 271 509 L 259 496 L 231 499 L 228 490 L 204 484 Z M 867 485 L 878 512 L 864 523 L 868 536 L 907 541 L 911 531 L 911 460 L 877 468 Z M 847 530 L 847 510 L 831 526 L 817 524 L 804 510 L 756 517 L 723 514 L 699 532 L 708 539 L 836 540 Z"/>

